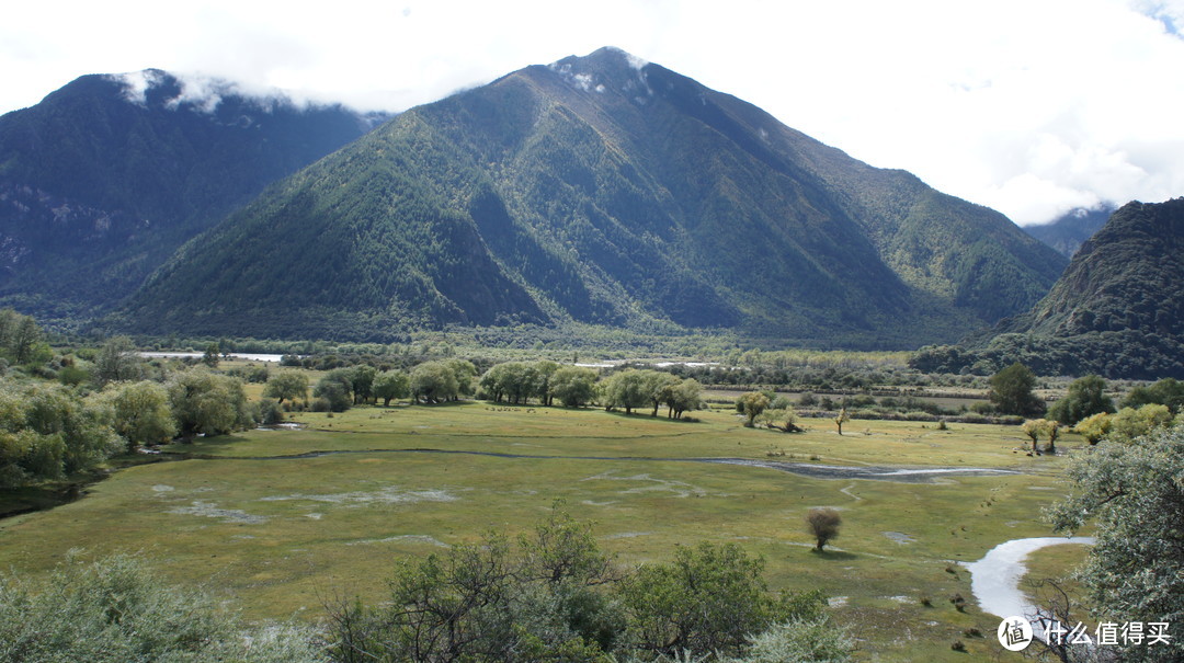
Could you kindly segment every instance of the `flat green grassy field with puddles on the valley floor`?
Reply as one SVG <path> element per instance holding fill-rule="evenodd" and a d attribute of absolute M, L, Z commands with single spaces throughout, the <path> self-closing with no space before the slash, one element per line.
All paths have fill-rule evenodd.
<path fill-rule="evenodd" d="M 564 498 L 625 565 L 700 540 L 764 555 L 772 586 L 832 597 L 864 659 L 965 661 L 950 648 L 955 639 L 972 658 L 1002 651 L 997 618 L 978 611 L 969 573 L 952 562 L 1049 535 L 1038 515 L 1066 490 L 1063 458 L 1017 452 L 1027 440 L 1018 427 L 850 421 L 838 436 L 826 420 L 805 420 L 806 432 L 785 435 L 745 429 L 731 410 L 694 414 L 699 421 L 484 403 L 302 414 L 303 430 L 174 445 L 167 451 L 200 458 L 121 470 L 77 502 L 0 521 L 0 568 L 44 571 L 77 547 L 143 551 L 249 617 L 317 619 L 336 593 L 381 599 L 384 578 L 408 555 L 489 528 L 526 530 Z M 1019 474 L 899 483 L 688 461 L 770 453 Z M 811 552 L 803 526 L 818 506 L 843 516 L 824 554 Z M 965 613 L 954 594 L 970 601 Z"/>

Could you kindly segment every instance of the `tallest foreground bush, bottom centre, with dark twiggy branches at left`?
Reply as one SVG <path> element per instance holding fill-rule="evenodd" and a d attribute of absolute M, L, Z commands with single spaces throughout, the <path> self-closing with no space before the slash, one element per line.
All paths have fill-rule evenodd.
<path fill-rule="evenodd" d="M 556 506 L 549 519 L 510 541 L 490 533 L 400 565 L 379 606 L 333 606 L 339 661 L 605 661 L 620 625 L 594 590 L 612 565 L 586 523 Z M 599 637 L 606 638 L 603 643 Z"/>

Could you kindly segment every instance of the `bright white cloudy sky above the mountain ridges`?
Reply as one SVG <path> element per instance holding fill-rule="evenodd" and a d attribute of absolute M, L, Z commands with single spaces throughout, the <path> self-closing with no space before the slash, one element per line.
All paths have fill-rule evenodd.
<path fill-rule="evenodd" d="M 44 0 L 4 14 L 0 112 L 148 67 L 398 111 L 617 46 L 1021 225 L 1184 195 L 1184 0 Z"/>

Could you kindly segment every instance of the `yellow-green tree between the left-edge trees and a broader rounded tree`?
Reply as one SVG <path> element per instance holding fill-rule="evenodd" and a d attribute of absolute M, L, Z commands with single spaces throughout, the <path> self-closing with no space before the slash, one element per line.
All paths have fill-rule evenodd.
<path fill-rule="evenodd" d="M 111 429 L 127 440 L 128 451 L 166 443 L 176 435 L 168 390 L 157 382 L 112 382 L 95 394 L 92 401 L 109 408 Z"/>

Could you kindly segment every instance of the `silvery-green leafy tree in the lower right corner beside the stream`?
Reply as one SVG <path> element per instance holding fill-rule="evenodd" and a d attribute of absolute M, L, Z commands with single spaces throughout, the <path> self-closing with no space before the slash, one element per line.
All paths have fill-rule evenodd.
<path fill-rule="evenodd" d="M 1099 620 L 1184 622 L 1184 429 L 1140 444 L 1103 442 L 1069 461 L 1072 495 L 1047 511 L 1057 530 L 1093 521 L 1095 545 L 1077 578 Z M 1130 646 L 1125 661 L 1182 661 L 1184 638 Z"/>

